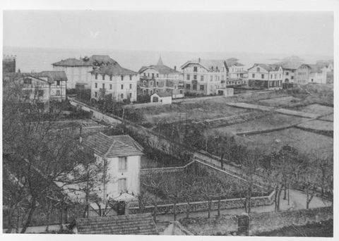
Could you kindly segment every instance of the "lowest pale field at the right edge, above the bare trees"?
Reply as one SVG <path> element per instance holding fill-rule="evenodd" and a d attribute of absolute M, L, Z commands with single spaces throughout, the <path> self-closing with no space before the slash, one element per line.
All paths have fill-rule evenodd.
<path fill-rule="evenodd" d="M 273 132 L 250 135 L 246 137 L 252 142 L 247 142 L 255 147 L 263 147 L 268 152 L 278 151 L 288 144 L 299 152 L 311 154 L 312 152 L 333 153 L 333 138 L 319 135 L 313 132 L 288 128 Z"/>

